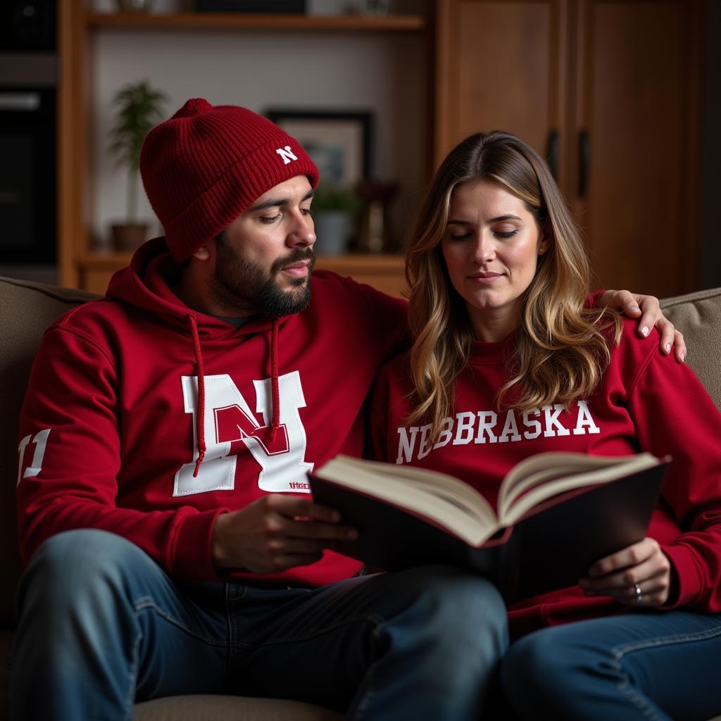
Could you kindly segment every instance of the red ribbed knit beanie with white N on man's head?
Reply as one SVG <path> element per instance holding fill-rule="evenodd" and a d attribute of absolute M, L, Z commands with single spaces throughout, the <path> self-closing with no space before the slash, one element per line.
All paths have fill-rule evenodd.
<path fill-rule="evenodd" d="M 143 142 L 140 172 L 174 260 L 193 255 L 263 193 L 318 169 L 278 125 L 236 105 L 188 100 Z"/>

